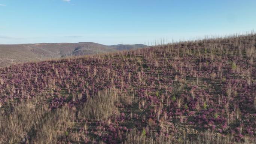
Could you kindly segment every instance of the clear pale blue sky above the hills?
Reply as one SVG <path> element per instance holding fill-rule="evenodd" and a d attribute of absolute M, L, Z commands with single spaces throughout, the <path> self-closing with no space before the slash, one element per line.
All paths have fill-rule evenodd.
<path fill-rule="evenodd" d="M 256 0 L 0 0 L 0 44 L 151 44 L 256 31 Z"/>

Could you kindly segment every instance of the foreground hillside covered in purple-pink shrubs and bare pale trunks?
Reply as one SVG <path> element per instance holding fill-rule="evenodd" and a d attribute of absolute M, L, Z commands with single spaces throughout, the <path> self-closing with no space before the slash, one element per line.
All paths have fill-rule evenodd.
<path fill-rule="evenodd" d="M 256 35 L 0 69 L 0 144 L 255 144 Z"/>

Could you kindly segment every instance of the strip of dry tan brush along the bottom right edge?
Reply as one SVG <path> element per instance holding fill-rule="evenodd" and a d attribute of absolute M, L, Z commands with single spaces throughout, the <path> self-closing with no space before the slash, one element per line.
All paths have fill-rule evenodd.
<path fill-rule="evenodd" d="M 185 133 L 180 135 L 179 138 L 173 136 L 165 137 L 164 135 L 158 135 L 156 138 L 153 132 L 147 130 L 140 132 L 134 128 L 131 132 L 127 133 L 127 140 L 123 144 L 255 144 L 256 142 L 249 137 L 244 138 L 244 141 L 241 142 L 232 140 L 232 135 L 222 136 L 210 130 L 201 132 L 197 135 L 197 138 L 191 138 Z"/>

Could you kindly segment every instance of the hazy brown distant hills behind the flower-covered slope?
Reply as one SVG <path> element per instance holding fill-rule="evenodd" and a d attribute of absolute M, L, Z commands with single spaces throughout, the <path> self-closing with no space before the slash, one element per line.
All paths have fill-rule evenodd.
<path fill-rule="evenodd" d="M 0 67 L 21 62 L 41 61 L 51 58 L 89 55 L 144 47 L 146 47 L 146 45 L 106 46 L 92 42 L 0 45 Z"/>

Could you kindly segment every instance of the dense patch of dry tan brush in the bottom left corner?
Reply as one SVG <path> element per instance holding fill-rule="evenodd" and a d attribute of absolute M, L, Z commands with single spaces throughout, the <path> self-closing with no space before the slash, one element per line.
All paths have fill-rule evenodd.
<path fill-rule="evenodd" d="M 47 106 L 22 103 L 0 117 L 0 144 L 55 144 L 73 117 L 67 106 L 50 111 Z"/>

